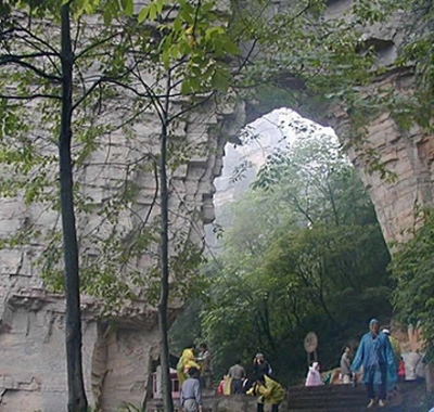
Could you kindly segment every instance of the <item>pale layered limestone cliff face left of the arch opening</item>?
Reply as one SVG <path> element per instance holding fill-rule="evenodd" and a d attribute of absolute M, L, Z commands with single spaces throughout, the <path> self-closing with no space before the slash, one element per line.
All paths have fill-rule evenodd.
<path fill-rule="evenodd" d="M 226 8 L 227 4 L 221 4 L 222 12 Z M 89 39 L 101 27 L 90 18 L 81 23 L 77 30 L 88 30 Z M 54 41 L 59 35 L 56 28 L 44 22 L 39 24 L 43 26 L 41 38 L 49 43 Z M 85 42 L 86 33 L 82 36 Z M 80 42 L 77 44 L 86 48 Z M 89 87 L 92 76 L 100 75 L 99 63 L 92 59 L 85 69 L 90 73 Z M 9 75 L 9 72 L 2 72 L 3 75 Z M 149 67 L 141 76 L 150 85 L 158 80 L 150 78 Z M 135 86 L 140 88 L 140 85 Z M 154 235 L 158 239 L 155 158 L 159 153 L 162 123 L 153 105 L 146 105 L 143 98 L 138 102 L 125 89 L 112 90 L 111 96 L 103 104 L 95 102 L 91 107 L 81 106 L 75 112 L 82 121 L 75 123 L 76 136 L 90 126 L 99 128 L 94 137 L 97 149 L 75 171 L 77 204 L 84 201 L 90 206 L 77 207 L 76 210 L 81 275 L 84 268 L 92 266 L 103 275 L 112 271 L 114 276 L 105 283 L 108 291 L 112 288 L 116 295 L 120 292 L 117 287 L 124 283 L 138 296 L 135 302 L 127 300 L 127 305 L 105 312 L 104 317 L 101 316 L 101 301 L 82 296 L 86 389 L 89 403 L 104 412 L 117 411 L 126 402 L 137 407 L 143 403 L 151 387 L 153 362 L 159 356 L 156 309 L 146 299 L 149 289 L 155 289 L 155 276 L 150 272 L 157 265 L 158 241 L 138 247 L 135 241 L 142 233 L 144 237 Z M 131 119 L 131 112 L 137 107 L 135 104 L 142 106 Z M 170 113 L 177 115 L 177 119 L 169 130 L 169 151 L 170 155 L 180 152 L 169 155 L 173 163 L 168 167 L 171 258 L 187 242 L 199 249 L 203 247 L 204 224 L 214 219 L 214 179 L 222 167 L 224 146 L 245 123 L 242 102 L 209 99 L 202 105 L 197 104 L 194 111 L 189 110 L 189 104 L 192 103 L 179 96 L 170 102 Z M 50 130 L 52 125 L 41 119 L 38 108 L 38 103 L 34 102 L 26 106 L 31 127 L 25 139 L 39 151 L 38 154 L 55 158 L 56 147 L 50 134 L 53 133 Z M 129 121 L 125 125 L 127 119 Z M 104 129 L 105 125 L 111 125 L 110 130 Z M 82 141 L 75 139 L 75 156 L 80 145 Z M 52 182 L 47 191 L 56 197 L 56 162 L 31 169 L 29 177 L 42 171 Z M 14 171 L 1 165 L 1 172 L 8 177 L 7 173 Z M 123 199 L 123 194 L 128 196 Z M 27 205 L 20 191 L 15 197 L 0 198 L 1 240 L 31 228 L 26 242 L 0 249 L 1 412 L 66 410 L 65 302 L 62 295 L 47 292 L 41 278 L 43 266 L 40 265 L 41 260 L 54 258 L 52 269 L 62 270 L 62 259 L 58 261 L 62 250 L 61 237 L 56 239 L 55 234 L 60 230 L 59 217 L 59 211 L 49 202 Z M 146 232 L 148 228 L 150 232 Z M 104 243 L 113 237 L 122 240 L 122 246 L 136 247 L 136 250 L 124 263 L 111 267 L 111 255 L 115 255 L 116 245 L 110 243 L 104 252 Z M 113 262 L 115 260 L 116 257 Z M 131 273 L 140 278 L 140 282 L 135 282 Z M 173 284 L 177 284 L 176 275 L 170 273 Z M 88 280 L 92 281 L 91 272 Z M 116 283 L 117 280 L 120 282 Z M 102 286 L 102 283 L 97 282 L 94 286 Z M 176 299 L 170 302 L 169 321 L 182 305 Z"/>

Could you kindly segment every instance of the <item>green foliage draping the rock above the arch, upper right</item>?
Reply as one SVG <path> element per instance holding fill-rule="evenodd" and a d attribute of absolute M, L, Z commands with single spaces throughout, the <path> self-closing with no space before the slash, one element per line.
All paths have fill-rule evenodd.
<path fill-rule="evenodd" d="M 278 12 L 260 1 L 234 3 L 239 17 L 231 28 L 252 44 L 246 53 L 255 55 L 255 63 L 243 73 L 242 87 L 251 88 L 247 93 L 260 113 L 281 106 L 282 101 L 317 119 L 330 111 L 339 113 L 348 120 L 342 131 L 346 146 L 357 153 L 368 172 L 393 181 L 396 176 L 369 143 L 367 126 L 390 113 L 403 130 L 414 125 L 432 130 L 431 2 L 290 3 Z M 382 50 L 381 41 L 371 36 L 390 25 L 398 25 L 404 39 Z M 391 53 L 397 53 L 395 64 L 384 59 Z"/>

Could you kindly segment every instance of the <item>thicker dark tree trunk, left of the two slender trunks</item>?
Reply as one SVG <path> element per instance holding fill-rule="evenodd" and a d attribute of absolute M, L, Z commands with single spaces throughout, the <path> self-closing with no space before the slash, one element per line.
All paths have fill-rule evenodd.
<path fill-rule="evenodd" d="M 61 60 L 62 60 L 62 119 L 59 137 L 59 162 L 61 185 L 61 211 L 63 230 L 63 256 L 66 294 L 66 364 L 68 383 L 68 412 L 86 412 L 88 401 L 85 392 L 81 365 L 81 310 L 78 269 L 77 232 L 74 213 L 73 164 L 71 156 L 73 117 L 73 65 L 71 42 L 69 3 L 61 9 Z"/>

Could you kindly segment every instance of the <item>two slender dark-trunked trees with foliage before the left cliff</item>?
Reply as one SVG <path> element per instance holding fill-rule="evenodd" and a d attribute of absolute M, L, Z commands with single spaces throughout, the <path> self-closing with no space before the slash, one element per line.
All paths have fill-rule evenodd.
<path fill-rule="evenodd" d="M 169 270 L 186 274 L 200 255 L 189 242 L 190 228 L 169 233 L 168 171 L 187 163 L 182 153 L 188 146 L 176 144 L 176 129 L 182 129 L 180 121 L 192 108 L 226 90 L 229 66 L 222 56 L 238 54 L 238 47 L 226 34 L 214 2 L 155 1 L 137 8 L 133 0 L 66 0 L 0 5 L 1 195 L 23 198 L 31 211 L 35 205 L 42 209 L 36 218 L 27 216 L 27 224 L 2 243 L 16 248 L 38 242 L 46 283 L 65 292 L 68 411 L 88 407 L 80 292 L 119 310 L 126 301 L 143 301 L 148 288 L 146 304 L 158 302 L 163 395 L 169 412 Z M 150 141 L 141 142 L 143 155 L 133 142 L 135 126 L 150 114 L 159 125 Z M 118 139 L 115 149 L 112 138 Z M 113 156 L 116 150 L 119 153 Z M 98 155 L 100 169 L 108 176 L 94 168 L 94 175 L 88 173 Z M 119 160 L 116 166 L 114 159 Z M 143 210 L 137 207 L 133 177 L 145 170 L 154 178 L 154 194 Z M 123 219 L 127 213 L 138 218 L 137 228 Z M 42 215 L 46 224 L 39 222 Z M 138 260 L 150 256 L 143 275 Z M 180 265 L 182 258 L 189 262 Z M 153 296 L 152 289 L 158 292 Z"/>

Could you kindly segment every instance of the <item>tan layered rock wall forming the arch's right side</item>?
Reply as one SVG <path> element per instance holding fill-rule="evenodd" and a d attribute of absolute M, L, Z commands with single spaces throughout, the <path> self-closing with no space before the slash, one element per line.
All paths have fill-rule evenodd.
<path fill-rule="evenodd" d="M 378 151 L 395 179 L 387 181 L 367 171 L 356 151 L 349 150 L 348 154 L 371 196 L 384 239 L 388 243 L 403 242 L 420 224 L 418 209 L 433 206 L 434 141 L 418 128 L 410 133 L 400 131 L 387 114 L 370 124 L 368 130 L 367 144 Z M 340 134 L 340 126 L 336 131 Z"/>

